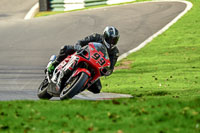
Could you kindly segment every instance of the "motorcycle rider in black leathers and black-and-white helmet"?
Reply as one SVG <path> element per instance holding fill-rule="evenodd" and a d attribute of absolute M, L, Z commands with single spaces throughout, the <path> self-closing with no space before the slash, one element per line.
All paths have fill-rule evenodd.
<path fill-rule="evenodd" d="M 81 47 L 88 45 L 89 42 L 99 42 L 106 46 L 109 54 L 111 64 L 110 64 L 110 72 L 106 75 L 108 76 L 113 72 L 114 66 L 119 57 L 119 50 L 116 46 L 118 39 L 119 39 L 118 30 L 113 26 L 107 26 L 103 31 L 103 35 L 94 33 L 90 36 L 85 37 L 82 40 L 79 40 L 77 44 L 75 44 L 74 46 L 65 45 L 60 49 L 60 53 L 56 58 L 56 60 L 48 67 L 48 71 L 52 73 L 55 67 L 61 61 L 63 61 L 68 55 L 71 55 L 74 52 L 80 50 Z M 93 93 L 100 93 L 101 88 L 102 88 L 101 82 L 100 80 L 97 80 L 90 88 L 88 88 L 88 90 Z"/>

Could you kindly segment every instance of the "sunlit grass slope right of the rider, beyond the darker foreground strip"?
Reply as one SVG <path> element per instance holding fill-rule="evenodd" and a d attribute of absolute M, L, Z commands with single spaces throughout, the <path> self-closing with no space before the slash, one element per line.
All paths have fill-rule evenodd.
<path fill-rule="evenodd" d="M 138 96 L 199 95 L 200 2 L 192 2 L 193 9 L 169 30 L 118 63 L 129 62 L 129 69 L 116 70 L 104 80 L 105 90 Z"/>

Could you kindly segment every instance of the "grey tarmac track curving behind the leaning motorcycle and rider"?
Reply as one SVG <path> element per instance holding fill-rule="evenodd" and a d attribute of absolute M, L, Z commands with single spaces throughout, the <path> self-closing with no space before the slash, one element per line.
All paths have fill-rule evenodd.
<path fill-rule="evenodd" d="M 0 100 L 38 99 L 36 90 L 52 54 L 62 45 L 107 25 L 120 31 L 123 54 L 156 33 L 186 5 L 180 2 L 139 3 L 76 11 L 31 20 L 0 21 Z"/>

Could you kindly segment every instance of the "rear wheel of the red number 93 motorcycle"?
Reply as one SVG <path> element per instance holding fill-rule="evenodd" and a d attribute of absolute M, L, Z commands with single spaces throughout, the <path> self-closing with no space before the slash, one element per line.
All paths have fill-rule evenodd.
<path fill-rule="evenodd" d="M 47 93 L 48 84 L 49 84 L 49 82 L 47 79 L 44 79 L 43 82 L 40 84 L 40 86 L 38 88 L 38 92 L 37 92 L 37 96 L 40 99 L 51 99 L 52 98 L 52 95 Z"/>

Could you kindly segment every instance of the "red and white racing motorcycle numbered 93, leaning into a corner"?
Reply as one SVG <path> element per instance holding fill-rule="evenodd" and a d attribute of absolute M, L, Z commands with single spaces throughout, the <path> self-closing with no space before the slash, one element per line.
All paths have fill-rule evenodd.
<path fill-rule="evenodd" d="M 50 58 L 51 64 L 56 59 Z M 88 89 L 101 76 L 110 72 L 110 60 L 106 47 L 101 43 L 91 42 L 81 50 L 66 57 L 54 70 L 46 71 L 40 84 L 37 96 L 40 99 L 60 97 L 61 100 L 73 98 Z"/>

